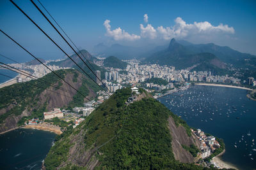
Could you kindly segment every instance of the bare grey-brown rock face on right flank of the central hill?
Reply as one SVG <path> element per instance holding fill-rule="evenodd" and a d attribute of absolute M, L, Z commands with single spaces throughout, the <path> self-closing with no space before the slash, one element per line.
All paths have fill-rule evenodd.
<path fill-rule="evenodd" d="M 193 134 L 189 137 L 186 129 L 182 125 L 177 127 L 172 117 L 168 118 L 168 128 L 172 136 L 172 150 L 175 159 L 183 163 L 195 162 L 195 158 L 191 153 L 182 148 L 182 145 L 190 146 L 193 144 L 199 148 L 200 143 L 198 139 Z"/>

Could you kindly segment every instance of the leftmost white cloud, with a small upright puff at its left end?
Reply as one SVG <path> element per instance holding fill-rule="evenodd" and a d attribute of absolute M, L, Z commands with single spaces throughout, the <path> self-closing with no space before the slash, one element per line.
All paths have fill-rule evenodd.
<path fill-rule="evenodd" d="M 122 30 L 120 27 L 118 27 L 117 29 L 113 29 L 111 30 L 111 25 L 109 24 L 110 20 L 105 20 L 104 22 L 104 26 L 106 28 L 106 36 L 112 37 L 115 40 L 136 40 L 136 39 L 140 39 L 140 36 L 136 35 L 136 34 L 129 34 L 128 32 L 125 32 L 124 30 Z"/>

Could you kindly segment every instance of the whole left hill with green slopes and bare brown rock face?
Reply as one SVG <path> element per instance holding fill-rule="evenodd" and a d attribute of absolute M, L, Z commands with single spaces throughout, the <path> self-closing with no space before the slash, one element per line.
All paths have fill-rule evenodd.
<path fill-rule="evenodd" d="M 75 69 L 56 71 L 62 78 L 85 96 L 95 97 L 99 87 L 92 80 Z M 51 85 L 68 89 L 65 92 L 40 80 L 15 83 L 0 89 L 0 132 L 23 125 L 26 118 L 43 117 L 44 111 L 52 108 L 83 106 L 84 97 L 53 73 L 41 78 Z"/>

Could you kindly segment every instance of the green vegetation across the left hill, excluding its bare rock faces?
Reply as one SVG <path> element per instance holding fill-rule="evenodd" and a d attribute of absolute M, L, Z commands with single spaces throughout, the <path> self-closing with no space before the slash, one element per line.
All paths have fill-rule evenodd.
<path fill-rule="evenodd" d="M 77 82 L 77 78 L 79 76 L 79 72 L 74 69 L 61 69 L 56 71 L 56 73 L 60 75 L 61 78 L 65 78 L 68 73 L 71 73 L 73 82 Z M 44 92 L 45 89 L 51 87 L 51 85 L 56 84 L 57 87 L 61 87 L 63 85 L 63 82 L 53 73 L 45 75 L 44 77 L 40 78 L 40 80 L 31 80 L 24 83 L 15 83 L 14 85 L 10 85 L 8 87 L 0 89 L 0 110 L 6 109 L 6 111 L 0 115 L 0 124 L 3 124 L 4 120 L 6 120 L 6 118 L 10 117 L 11 115 L 14 115 L 15 117 L 21 115 L 24 110 L 27 110 L 30 116 L 22 117 L 17 123 L 18 125 L 23 125 L 24 122 L 30 118 L 43 118 L 44 111 L 47 111 L 47 101 L 49 101 L 49 96 L 45 96 L 46 101 L 42 103 L 39 97 L 40 94 Z M 45 83 L 45 81 L 49 83 Z M 90 92 L 89 88 L 93 92 L 97 92 L 100 90 L 100 88 L 95 85 L 92 80 L 89 80 L 88 78 L 83 78 L 83 85 L 79 87 L 78 90 L 81 91 L 84 96 L 88 96 Z M 58 90 L 57 88 L 53 89 Z M 51 93 L 54 94 L 53 92 Z M 60 94 L 54 95 L 60 96 Z M 72 94 L 69 94 L 68 96 L 72 96 Z M 67 103 L 63 105 L 63 107 L 67 107 L 67 105 L 69 108 L 74 106 L 83 106 L 83 103 L 84 97 L 81 96 L 81 94 L 77 93 L 73 96 L 73 100 L 69 104 Z"/>

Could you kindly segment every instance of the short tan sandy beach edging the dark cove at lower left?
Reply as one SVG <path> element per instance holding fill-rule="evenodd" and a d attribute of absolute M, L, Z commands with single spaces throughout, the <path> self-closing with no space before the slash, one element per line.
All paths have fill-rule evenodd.
<path fill-rule="evenodd" d="M 42 130 L 42 131 L 54 132 L 56 134 L 62 134 L 60 127 L 58 127 L 56 125 L 51 125 L 51 124 L 48 124 L 45 122 L 43 124 L 37 124 L 37 125 L 26 125 L 22 128 L 38 129 L 38 130 Z"/>

